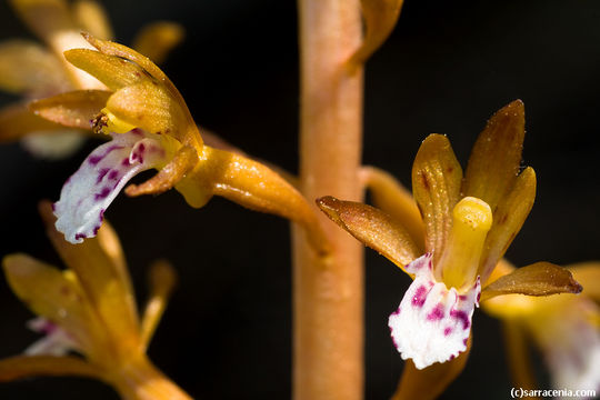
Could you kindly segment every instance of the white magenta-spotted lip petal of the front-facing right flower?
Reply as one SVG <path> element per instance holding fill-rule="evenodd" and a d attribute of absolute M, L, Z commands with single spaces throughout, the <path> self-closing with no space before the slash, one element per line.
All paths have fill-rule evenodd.
<path fill-rule="evenodd" d="M 479 278 L 467 293 L 460 294 L 436 281 L 429 253 L 406 269 L 414 273 L 414 281 L 388 321 L 398 352 L 403 360 L 412 359 L 418 369 L 456 358 L 467 350 L 471 318 L 481 293 Z"/>

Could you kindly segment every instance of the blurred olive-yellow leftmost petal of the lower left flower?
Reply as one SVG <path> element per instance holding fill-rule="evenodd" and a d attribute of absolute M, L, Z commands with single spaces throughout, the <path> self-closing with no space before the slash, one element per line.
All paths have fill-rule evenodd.
<path fill-rule="evenodd" d="M 77 280 L 27 254 L 4 257 L 3 267 L 12 291 L 28 308 L 64 329 L 87 356 L 99 353 L 103 330 Z"/>

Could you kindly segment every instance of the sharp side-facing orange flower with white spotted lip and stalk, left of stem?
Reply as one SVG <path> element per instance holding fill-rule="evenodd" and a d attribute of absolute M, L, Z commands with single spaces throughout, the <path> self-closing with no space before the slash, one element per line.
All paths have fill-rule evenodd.
<path fill-rule="evenodd" d="M 137 173 L 159 172 L 129 196 L 174 187 L 187 202 L 204 206 L 218 194 L 247 208 L 282 216 L 311 230 L 319 251 L 324 240 L 304 198 L 270 168 L 240 153 L 207 146 L 167 76 L 147 57 L 118 43 L 86 36 L 99 51 L 64 53 L 108 91 L 73 91 L 31 106 L 40 116 L 71 127 L 89 127 L 112 138 L 97 148 L 64 183 L 54 203 L 57 229 L 80 243 L 96 236 L 108 206 Z"/>

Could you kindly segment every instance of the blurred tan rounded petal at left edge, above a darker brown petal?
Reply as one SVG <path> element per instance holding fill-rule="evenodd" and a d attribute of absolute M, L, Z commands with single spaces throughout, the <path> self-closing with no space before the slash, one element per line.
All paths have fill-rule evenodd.
<path fill-rule="evenodd" d="M 0 89 L 37 98 L 69 86 L 54 54 L 36 42 L 9 40 L 0 43 Z"/>

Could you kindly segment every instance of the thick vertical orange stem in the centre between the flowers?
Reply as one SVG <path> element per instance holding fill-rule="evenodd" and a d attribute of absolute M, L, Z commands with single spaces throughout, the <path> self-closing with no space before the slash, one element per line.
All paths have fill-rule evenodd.
<path fill-rule="evenodd" d="M 361 41 L 358 0 L 299 0 L 300 186 L 313 201 L 359 201 L 362 69 L 343 62 Z M 363 391 L 362 246 L 320 216 L 331 254 L 293 232 L 293 398 L 358 400 Z"/>

